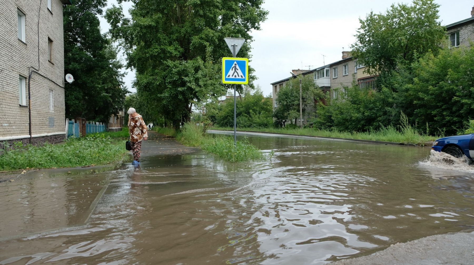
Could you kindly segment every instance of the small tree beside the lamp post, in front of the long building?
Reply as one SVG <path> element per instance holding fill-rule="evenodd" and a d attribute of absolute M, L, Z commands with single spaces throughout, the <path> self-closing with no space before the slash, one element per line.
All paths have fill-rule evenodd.
<path fill-rule="evenodd" d="M 314 100 L 324 98 L 319 87 L 316 87 L 311 75 L 301 78 L 301 105 L 303 112 L 314 110 Z M 300 79 L 292 78 L 278 92 L 276 98 L 277 107 L 273 112 L 275 125 L 285 126 L 288 120 L 292 121 L 300 117 Z"/>

